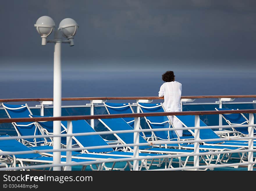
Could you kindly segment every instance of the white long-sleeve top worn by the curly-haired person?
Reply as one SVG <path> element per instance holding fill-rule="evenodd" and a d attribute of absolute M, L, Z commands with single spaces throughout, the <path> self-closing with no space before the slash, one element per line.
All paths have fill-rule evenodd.
<path fill-rule="evenodd" d="M 180 97 L 182 85 L 177 81 L 165 82 L 158 92 L 159 97 L 164 96 L 163 106 L 168 112 L 181 111 Z"/>

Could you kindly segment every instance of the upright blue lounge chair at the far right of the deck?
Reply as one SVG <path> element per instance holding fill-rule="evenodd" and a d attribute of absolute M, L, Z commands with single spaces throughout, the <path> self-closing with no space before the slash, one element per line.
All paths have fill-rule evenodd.
<path fill-rule="evenodd" d="M 234 109 L 226 109 L 226 108 L 215 108 L 217 111 L 222 110 L 234 110 Z M 238 109 L 237 109 L 238 110 Z M 249 120 L 243 115 L 243 113 L 227 113 L 220 114 L 223 119 L 230 125 L 234 132 L 240 132 L 243 137 L 248 136 L 248 127 L 232 127 L 232 125 L 243 125 L 249 124 Z M 256 134 L 256 128 L 254 127 L 254 134 Z"/>

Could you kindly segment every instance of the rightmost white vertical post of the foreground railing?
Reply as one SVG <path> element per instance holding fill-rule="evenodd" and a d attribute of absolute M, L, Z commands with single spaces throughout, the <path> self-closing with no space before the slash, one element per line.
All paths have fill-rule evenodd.
<path fill-rule="evenodd" d="M 249 114 L 249 124 L 254 124 L 254 116 L 253 113 Z M 253 132 L 254 132 L 254 127 L 253 126 L 249 126 L 248 127 L 248 137 L 253 137 Z M 248 142 L 248 149 L 253 149 L 253 139 L 249 139 Z M 253 151 L 249 151 L 248 152 L 248 163 L 252 163 L 253 162 Z M 253 170 L 253 164 L 249 164 L 248 165 L 248 170 Z"/>

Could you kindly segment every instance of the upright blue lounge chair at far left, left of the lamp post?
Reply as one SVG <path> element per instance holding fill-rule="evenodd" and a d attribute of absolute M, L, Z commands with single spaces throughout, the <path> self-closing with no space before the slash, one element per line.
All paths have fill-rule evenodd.
<path fill-rule="evenodd" d="M 2 103 L 4 110 L 6 111 L 9 118 L 20 118 L 20 117 L 29 117 L 32 115 L 31 110 L 27 104 L 23 105 L 10 105 Z M 35 122 L 13 122 L 12 123 L 18 136 L 25 135 L 42 135 L 42 131 Z M 22 139 L 22 143 L 36 146 L 37 144 L 49 144 L 50 139 L 46 138 L 30 138 Z"/>

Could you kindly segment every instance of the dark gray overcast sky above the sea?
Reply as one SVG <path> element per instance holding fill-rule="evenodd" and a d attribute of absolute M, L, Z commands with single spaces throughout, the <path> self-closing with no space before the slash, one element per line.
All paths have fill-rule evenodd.
<path fill-rule="evenodd" d="M 1 1 L 2 69 L 53 69 L 54 45 L 34 24 L 48 15 L 79 24 L 62 45 L 63 70 L 255 69 L 255 0 Z M 53 38 L 53 34 L 48 39 Z"/>

